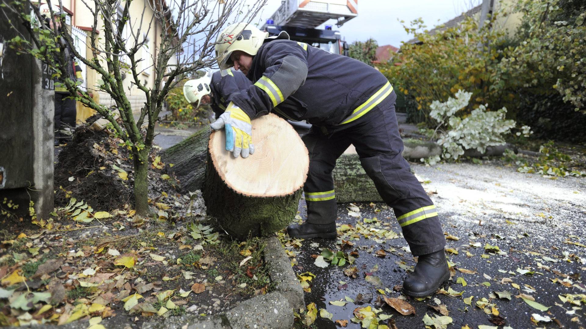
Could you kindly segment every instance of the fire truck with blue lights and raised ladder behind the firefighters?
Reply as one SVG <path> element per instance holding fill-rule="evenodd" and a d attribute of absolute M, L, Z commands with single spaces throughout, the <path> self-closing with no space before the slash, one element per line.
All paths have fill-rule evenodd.
<path fill-rule="evenodd" d="M 261 30 L 266 30 L 271 36 L 285 31 L 291 40 L 348 56 L 348 46 L 340 32 L 332 30 L 332 25 L 325 25 L 325 29 L 318 29 L 318 26 L 335 19 L 335 25 L 339 28 L 355 18 L 358 15 L 356 2 L 357 0 L 283 0 Z"/>

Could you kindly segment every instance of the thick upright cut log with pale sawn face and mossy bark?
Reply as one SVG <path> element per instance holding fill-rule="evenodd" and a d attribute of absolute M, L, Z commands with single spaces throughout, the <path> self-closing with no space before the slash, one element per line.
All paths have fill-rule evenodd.
<path fill-rule="evenodd" d="M 203 198 L 207 213 L 239 239 L 273 234 L 297 214 L 309 156 L 287 121 L 274 114 L 252 121 L 254 154 L 234 158 L 225 149 L 226 133 L 209 140 Z"/>

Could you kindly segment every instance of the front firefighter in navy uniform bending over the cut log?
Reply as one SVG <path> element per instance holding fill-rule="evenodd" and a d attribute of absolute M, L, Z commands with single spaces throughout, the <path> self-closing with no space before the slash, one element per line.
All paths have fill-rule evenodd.
<path fill-rule="evenodd" d="M 289 40 L 285 32 L 268 37 L 246 23 L 229 26 L 217 42 L 220 68 L 233 66 L 254 81 L 231 95 L 226 112 L 212 124 L 227 130 L 226 149 L 235 157 L 253 153 L 250 118 L 277 112 L 313 125 L 302 137 L 309 151 L 304 186 L 308 217 L 287 228 L 289 237 L 336 238 L 332 169 L 353 144 L 380 196 L 393 208 L 411 253 L 418 256 L 414 272 L 404 280 L 404 293 L 434 293 L 449 278 L 445 238 L 435 205 L 401 156 L 396 94 L 383 74 L 361 61 Z"/>

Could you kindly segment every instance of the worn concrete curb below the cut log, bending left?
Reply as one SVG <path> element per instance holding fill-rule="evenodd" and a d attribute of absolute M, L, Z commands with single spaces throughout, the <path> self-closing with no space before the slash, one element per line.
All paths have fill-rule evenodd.
<path fill-rule="evenodd" d="M 188 314 L 180 317 L 159 318 L 142 324 L 142 329 L 290 329 L 293 311 L 305 307 L 303 289 L 291 268 L 291 262 L 281 242 L 275 237 L 265 239 L 264 259 L 275 291 L 255 296 L 232 309 L 209 317 Z M 124 329 L 127 323 L 108 318 L 100 324 L 108 329 Z M 88 321 L 74 321 L 64 325 L 36 325 L 34 328 L 85 329 Z"/>

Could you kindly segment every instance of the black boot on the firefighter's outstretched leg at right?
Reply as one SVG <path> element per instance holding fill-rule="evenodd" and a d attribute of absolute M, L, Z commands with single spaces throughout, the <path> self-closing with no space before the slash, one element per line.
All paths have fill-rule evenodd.
<path fill-rule="evenodd" d="M 403 282 L 403 293 L 412 297 L 427 297 L 449 279 L 445 251 L 419 256 L 415 270 Z"/>

